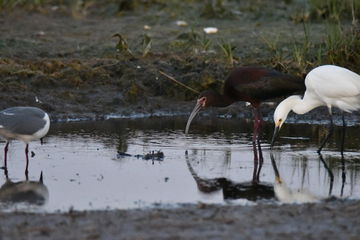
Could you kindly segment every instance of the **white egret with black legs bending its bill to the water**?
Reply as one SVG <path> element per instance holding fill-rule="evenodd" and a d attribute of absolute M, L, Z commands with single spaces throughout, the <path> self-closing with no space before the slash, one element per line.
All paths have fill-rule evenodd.
<path fill-rule="evenodd" d="M 346 128 L 343 112 L 351 113 L 354 110 L 360 109 L 360 76 L 346 68 L 324 65 L 312 69 L 307 74 L 305 86 L 306 91 L 302 99 L 300 96 L 290 96 L 276 107 L 274 112 L 275 130 L 270 149 L 274 146 L 276 133 L 285 122 L 291 110 L 297 114 L 305 114 L 316 107 L 327 106 L 330 117 L 329 132 L 317 151 L 320 153 L 334 131 L 331 111 L 332 106 L 334 106 L 342 111 L 343 133 L 341 154 L 343 154 Z"/>

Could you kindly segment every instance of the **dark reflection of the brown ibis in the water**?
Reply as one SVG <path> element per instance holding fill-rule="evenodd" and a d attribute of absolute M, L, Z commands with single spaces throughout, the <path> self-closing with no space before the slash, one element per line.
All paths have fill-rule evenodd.
<path fill-rule="evenodd" d="M 254 172 L 253 179 L 247 182 L 233 182 L 228 178 L 201 178 L 192 168 L 188 151 L 185 152 L 186 163 L 188 164 L 189 171 L 191 172 L 194 180 L 196 181 L 198 189 L 203 193 L 212 193 L 222 189 L 224 199 L 247 199 L 256 201 L 259 199 L 271 199 L 275 197 L 273 184 L 267 182 L 260 182 L 259 176 L 261 166 L 264 161 L 262 157 L 261 147 L 259 148 L 259 158 L 257 156 L 256 144 L 253 143 L 254 149 Z"/>

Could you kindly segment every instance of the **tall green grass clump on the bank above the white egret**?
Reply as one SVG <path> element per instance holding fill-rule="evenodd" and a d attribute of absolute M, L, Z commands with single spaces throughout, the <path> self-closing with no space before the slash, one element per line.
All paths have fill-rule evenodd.
<path fill-rule="evenodd" d="M 273 54 L 273 68 L 307 71 L 309 65 L 332 64 L 360 72 L 360 29 L 357 24 L 344 28 L 339 21 L 328 21 L 324 37 L 320 40 L 312 39 L 310 27 L 310 23 L 303 22 L 302 43 L 294 39 L 280 45 L 279 36 L 273 41 L 263 37 L 268 51 Z"/>

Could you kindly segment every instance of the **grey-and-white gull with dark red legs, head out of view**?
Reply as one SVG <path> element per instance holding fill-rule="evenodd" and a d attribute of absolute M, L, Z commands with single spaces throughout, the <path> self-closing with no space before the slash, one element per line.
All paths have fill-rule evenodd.
<path fill-rule="evenodd" d="M 5 166 L 9 142 L 12 140 L 20 140 L 26 143 L 25 154 L 28 165 L 29 142 L 40 139 L 42 145 L 42 137 L 48 133 L 49 127 L 49 115 L 39 108 L 14 107 L 1 111 L 0 135 L 3 136 L 7 142 L 5 146 Z"/>

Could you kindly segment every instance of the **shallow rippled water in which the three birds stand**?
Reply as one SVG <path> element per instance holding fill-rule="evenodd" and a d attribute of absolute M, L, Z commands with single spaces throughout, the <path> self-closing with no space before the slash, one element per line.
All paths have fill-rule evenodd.
<path fill-rule="evenodd" d="M 4 203 L 0 210 L 63 212 L 360 196 L 359 126 L 347 128 L 343 159 L 340 127 L 320 159 L 316 150 L 326 134 L 324 125 L 285 123 L 271 156 L 272 122 L 265 122 L 259 151 L 251 143 L 250 119 L 196 117 L 187 138 L 186 121 L 187 116 L 52 123 L 44 145 L 37 141 L 29 147 L 35 156 L 29 156 L 28 178 L 39 181 L 43 172 L 48 196 L 44 189 L 40 193 L 45 194 L 46 203 Z M 24 148 L 19 141 L 9 146 L 8 178 L 14 183 L 26 179 Z M 165 157 L 117 158 L 117 150 L 131 155 L 161 150 Z M 281 184 L 275 181 L 276 171 Z M 3 174 L 0 185 L 5 182 Z M 0 199 L 1 194 L 0 189 Z"/>

